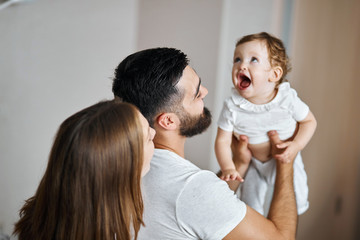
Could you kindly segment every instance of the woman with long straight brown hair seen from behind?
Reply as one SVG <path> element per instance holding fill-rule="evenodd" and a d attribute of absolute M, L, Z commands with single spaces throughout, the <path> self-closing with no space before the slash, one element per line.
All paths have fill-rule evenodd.
<path fill-rule="evenodd" d="M 100 102 L 70 116 L 14 234 L 19 240 L 136 239 L 144 224 L 140 180 L 150 167 L 154 135 L 127 103 Z"/>

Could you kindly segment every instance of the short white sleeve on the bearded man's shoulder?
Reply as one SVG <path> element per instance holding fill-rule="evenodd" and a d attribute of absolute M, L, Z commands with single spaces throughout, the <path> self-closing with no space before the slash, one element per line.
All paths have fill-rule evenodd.
<path fill-rule="evenodd" d="M 245 217 L 246 205 L 213 172 L 189 179 L 177 200 L 180 227 L 198 239 L 222 239 Z"/>

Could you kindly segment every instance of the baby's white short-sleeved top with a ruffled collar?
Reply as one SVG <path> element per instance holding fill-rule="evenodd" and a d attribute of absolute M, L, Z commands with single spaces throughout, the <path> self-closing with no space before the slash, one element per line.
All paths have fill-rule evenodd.
<path fill-rule="evenodd" d="M 275 98 L 266 104 L 253 104 L 235 88 L 224 102 L 218 126 L 235 136 L 246 135 L 249 143 L 269 141 L 267 133 L 276 130 L 281 140 L 294 134 L 296 123 L 305 119 L 309 107 L 300 100 L 288 82 L 279 85 Z"/>

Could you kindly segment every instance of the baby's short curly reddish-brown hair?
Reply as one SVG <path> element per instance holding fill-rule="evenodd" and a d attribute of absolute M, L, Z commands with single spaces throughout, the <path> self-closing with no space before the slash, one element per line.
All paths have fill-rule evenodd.
<path fill-rule="evenodd" d="M 271 66 L 272 67 L 280 66 L 283 70 L 283 75 L 281 76 L 280 80 L 277 82 L 276 86 L 278 86 L 282 82 L 287 82 L 287 79 L 285 79 L 285 77 L 287 73 L 291 71 L 291 64 L 290 64 L 290 59 L 286 54 L 284 44 L 280 39 L 270 35 L 267 32 L 261 32 L 261 33 L 250 34 L 242 37 L 236 43 L 235 47 L 239 46 L 240 44 L 255 40 L 265 41 L 268 49 L 269 62 Z"/>

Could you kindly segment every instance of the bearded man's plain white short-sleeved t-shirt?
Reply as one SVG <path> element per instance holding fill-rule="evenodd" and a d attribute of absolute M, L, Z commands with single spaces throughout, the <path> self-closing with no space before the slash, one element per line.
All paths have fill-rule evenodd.
<path fill-rule="evenodd" d="M 155 149 L 142 194 L 139 240 L 222 239 L 246 214 L 226 182 L 167 150 Z"/>

